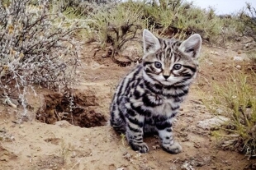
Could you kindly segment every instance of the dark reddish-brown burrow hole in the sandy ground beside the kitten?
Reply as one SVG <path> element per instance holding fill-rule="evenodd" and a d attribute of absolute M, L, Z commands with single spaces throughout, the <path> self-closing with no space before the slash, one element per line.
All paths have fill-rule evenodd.
<path fill-rule="evenodd" d="M 96 96 L 92 91 L 71 94 L 45 94 L 44 103 L 36 113 L 36 119 L 47 124 L 66 120 L 81 127 L 104 126 L 107 118 L 97 113 Z"/>

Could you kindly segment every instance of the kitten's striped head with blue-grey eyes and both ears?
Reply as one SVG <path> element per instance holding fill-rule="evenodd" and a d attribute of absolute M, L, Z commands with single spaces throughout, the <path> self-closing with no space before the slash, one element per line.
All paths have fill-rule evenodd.
<path fill-rule="evenodd" d="M 162 85 L 189 85 L 197 75 L 197 57 L 201 50 L 201 36 L 188 39 L 159 39 L 149 30 L 143 31 L 144 77 Z"/>

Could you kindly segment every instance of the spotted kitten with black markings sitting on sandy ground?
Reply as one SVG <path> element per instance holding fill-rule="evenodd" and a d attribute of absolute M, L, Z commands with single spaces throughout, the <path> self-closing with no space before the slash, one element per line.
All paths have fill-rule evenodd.
<path fill-rule="evenodd" d="M 142 63 L 121 80 L 111 103 L 111 126 L 126 133 L 132 149 L 146 153 L 145 133 L 158 132 L 161 145 L 170 154 L 182 146 L 173 140 L 173 117 L 197 76 L 201 36 L 185 41 L 159 39 L 143 31 Z"/>

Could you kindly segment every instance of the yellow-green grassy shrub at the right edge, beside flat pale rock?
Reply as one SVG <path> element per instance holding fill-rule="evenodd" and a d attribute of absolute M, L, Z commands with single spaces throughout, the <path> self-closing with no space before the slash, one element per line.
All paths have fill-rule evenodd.
<path fill-rule="evenodd" d="M 224 149 L 235 149 L 249 158 L 256 156 L 256 93 L 255 73 L 246 75 L 234 71 L 223 85 L 216 85 L 213 99 L 216 109 L 221 109 L 225 117 L 230 117 L 221 133 L 220 145 Z"/>

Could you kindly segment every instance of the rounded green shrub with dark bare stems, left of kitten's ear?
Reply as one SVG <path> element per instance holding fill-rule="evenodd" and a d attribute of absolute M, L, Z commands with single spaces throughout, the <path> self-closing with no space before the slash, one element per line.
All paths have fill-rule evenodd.
<path fill-rule="evenodd" d="M 93 21 L 91 27 L 96 30 L 102 48 L 111 44 L 111 57 L 119 53 L 124 44 L 135 39 L 137 31 L 146 25 L 140 8 L 128 7 L 123 2 L 109 2 L 97 7 L 90 18 Z"/>

